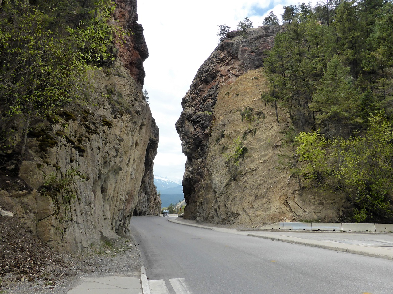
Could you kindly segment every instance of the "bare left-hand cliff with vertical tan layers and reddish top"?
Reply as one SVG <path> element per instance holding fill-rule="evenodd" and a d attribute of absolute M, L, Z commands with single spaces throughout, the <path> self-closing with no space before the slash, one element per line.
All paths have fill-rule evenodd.
<path fill-rule="evenodd" d="M 88 102 L 39 122 L 21 162 L 2 167 L 0 205 L 59 252 L 125 234 L 133 214 L 161 209 L 152 174 L 159 131 L 142 94 L 148 50 L 136 0 L 116 2 L 115 18 L 135 34 L 92 76 Z"/>

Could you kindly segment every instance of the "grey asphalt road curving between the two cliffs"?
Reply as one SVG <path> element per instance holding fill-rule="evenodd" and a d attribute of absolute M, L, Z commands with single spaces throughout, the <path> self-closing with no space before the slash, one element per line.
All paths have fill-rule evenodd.
<path fill-rule="evenodd" d="M 393 294 L 393 261 L 137 216 L 131 231 L 149 281 L 191 294 Z M 152 294 L 159 292 L 152 291 Z M 186 291 L 184 292 L 186 293 Z"/>

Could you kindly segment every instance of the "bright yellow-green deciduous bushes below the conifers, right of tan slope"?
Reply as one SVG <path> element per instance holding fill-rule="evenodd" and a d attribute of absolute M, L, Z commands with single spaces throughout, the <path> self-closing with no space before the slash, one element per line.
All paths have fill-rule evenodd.
<path fill-rule="evenodd" d="M 364 136 L 326 140 L 316 132 L 301 132 L 298 142 L 303 176 L 343 191 L 354 205 L 352 220 L 392 220 L 392 123 L 382 114 L 369 118 Z"/>

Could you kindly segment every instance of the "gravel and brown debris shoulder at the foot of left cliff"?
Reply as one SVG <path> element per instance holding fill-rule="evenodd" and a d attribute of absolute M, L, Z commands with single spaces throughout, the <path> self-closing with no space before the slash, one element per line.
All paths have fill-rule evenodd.
<path fill-rule="evenodd" d="M 140 276 L 132 235 L 105 239 L 90 250 L 58 254 L 14 217 L 0 216 L 0 293 L 66 294 L 84 277 Z"/>

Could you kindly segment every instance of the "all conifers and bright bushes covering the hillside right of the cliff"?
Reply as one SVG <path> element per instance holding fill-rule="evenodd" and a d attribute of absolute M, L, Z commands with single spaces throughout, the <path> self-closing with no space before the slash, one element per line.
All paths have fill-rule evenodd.
<path fill-rule="evenodd" d="M 344 193 L 344 221 L 393 221 L 392 1 L 284 8 L 261 96 L 294 126 L 299 186 Z"/>

